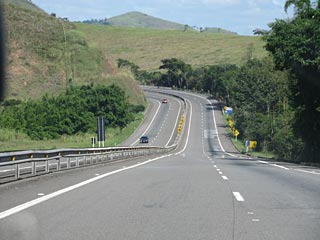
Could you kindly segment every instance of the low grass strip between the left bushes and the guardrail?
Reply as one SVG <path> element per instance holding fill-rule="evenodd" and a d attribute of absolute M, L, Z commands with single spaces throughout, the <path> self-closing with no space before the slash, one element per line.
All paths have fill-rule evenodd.
<path fill-rule="evenodd" d="M 106 147 L 116 146 L 131 136 L 143 121 L 143 114 L 136 115 L 135 121 L 120 131 L 119 128 L 106 129 Z M 90 148 L 91 138 L 95 133 L 83 133 L 74 136 L 46 141 L 31 140 L 26 134 L 14 130 L 0 129 L 0 152 L 30 150 L 30 149 L 55 149 L 55 148 Z M 96 147 L 98 145 L 96 144 Z"/>

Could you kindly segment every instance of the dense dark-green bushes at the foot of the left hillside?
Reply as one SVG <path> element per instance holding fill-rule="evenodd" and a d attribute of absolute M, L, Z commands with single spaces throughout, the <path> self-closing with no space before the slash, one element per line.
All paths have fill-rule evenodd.
<path fill-rule="evenodd" d="M 143 106 L 129 105 L 124 91 L 115 85 L 70 87 L 57 97 L 11 100 L 2 105 L 0 127 L 37 140 L 94 132 L 97 116 L 104 116 L 106 127 L 122 129 L 133 120 L 134 113 L 144 110 Z"/>

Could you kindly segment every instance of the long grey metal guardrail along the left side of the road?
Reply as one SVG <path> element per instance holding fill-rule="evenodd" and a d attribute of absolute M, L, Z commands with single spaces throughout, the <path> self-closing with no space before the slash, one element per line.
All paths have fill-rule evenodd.
<path fill-rule="evenodd" d="M 176 145 L 170 147 L 57 149 L 0 153 L 0 179 L 2 179 L 1 182 L 8 182 L 23 177 L 48 174 L 93 164 L 163 154 L 175 148 Z"/>

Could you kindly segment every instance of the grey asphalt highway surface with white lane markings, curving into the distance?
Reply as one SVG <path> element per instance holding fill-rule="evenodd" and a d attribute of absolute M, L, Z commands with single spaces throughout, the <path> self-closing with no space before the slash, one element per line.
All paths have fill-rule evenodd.
<path fill-rule="evenodd" d="M 0 239 L 320 239 L 319 169 L 238 154 L 215 101 L 176 94 L 175 152 L 2 185 Z M 138 132 L 165 144 L 179 104 L 158 114 L 151 95 L 156 117 Z"/>

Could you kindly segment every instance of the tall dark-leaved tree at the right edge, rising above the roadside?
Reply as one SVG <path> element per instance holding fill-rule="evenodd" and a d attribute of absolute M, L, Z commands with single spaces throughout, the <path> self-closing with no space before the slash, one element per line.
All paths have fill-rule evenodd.
<path fill-rule="evenodd" d="M 290 6 L 294 17 L 270 24 L 264 39 L 278 68 L 291 72 L 294 130 L 305 143 L 302 158 L 316 162 L 320 156 L 320 1 L 286 1 L 285 10 Z"/>

